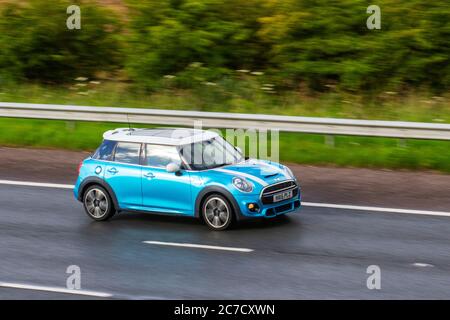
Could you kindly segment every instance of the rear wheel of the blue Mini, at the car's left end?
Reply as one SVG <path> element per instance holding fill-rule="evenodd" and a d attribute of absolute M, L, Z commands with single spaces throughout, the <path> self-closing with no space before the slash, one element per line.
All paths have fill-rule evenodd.
<path fill-rule="evenodd" d="M 96 221 L 108 220 L 116 213 L 108 191 L 99 185 L 87 188 L 83 204 L 87 215 Z"/>

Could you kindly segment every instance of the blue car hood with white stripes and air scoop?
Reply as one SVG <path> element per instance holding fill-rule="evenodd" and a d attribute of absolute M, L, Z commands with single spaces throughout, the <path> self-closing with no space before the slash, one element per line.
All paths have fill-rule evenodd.
<path fill-rule="evenodd" d="M 214 169 L 214 171 L 244 177 L 263 187 L 284 180 L 293 179 L 283 165 L 266 160 L 249 159 L 240 163 Z"/>

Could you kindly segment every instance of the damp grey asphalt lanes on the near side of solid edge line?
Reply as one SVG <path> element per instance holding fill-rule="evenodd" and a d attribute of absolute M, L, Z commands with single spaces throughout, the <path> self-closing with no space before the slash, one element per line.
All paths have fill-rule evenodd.
<path fill-rule="evenodd" d="M 67 267 L 78 265 L 82 289 L 113 298 L 450 298 L 449 217 L 305 207 L 213 232 L 139 213 L 93 222 L 71 190 L 1 185 L 0 243 L 0 282 L 65 287 Z M 381 268 L 380 290 L 366 286 L 369 265 Z M 74 298 L 90 297 L 0 288 L 0 299 Z"/>

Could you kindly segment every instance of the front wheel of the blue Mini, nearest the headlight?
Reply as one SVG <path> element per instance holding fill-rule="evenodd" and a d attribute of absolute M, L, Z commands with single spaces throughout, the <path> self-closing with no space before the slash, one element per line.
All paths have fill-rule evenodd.
<path fill-rule="evenodd" d="M 234 217 L 229 201 L 219 194 L 210 195 L 205 199 L 202 216 L 208 227 L 216 231 L 227 229 Z"/>

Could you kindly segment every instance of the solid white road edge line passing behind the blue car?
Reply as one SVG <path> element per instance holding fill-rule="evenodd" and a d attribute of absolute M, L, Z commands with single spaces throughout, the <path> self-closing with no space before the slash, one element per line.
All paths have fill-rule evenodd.
<path fill-rule="evenodd" d="M 215 169 L 215 170 L 218 170 L 218 169 Z M 223 169 L 220 169 L 220 170 L 223 170 Z M 238 174 L 238 173 L 239 172 L 236 172 L 236 174 Z M 73 189 L 74 188 L 74 185 L 70 185 L 70 184 L 40 183 L 40 182 L 26 182 L 26 181 L 13 181 L 13 180 L 0 180 L 0 185 L 1 184 L 14 185 L 14 186 L 59 188 L 59 189 Z M 450 217 L 450 212 L 446 212 L 446 211 L 428 211 L 428 210 L 368 207 L 368 206 L 354 206 L 354 205 L 346 205 L 346 204 L 317 203 L 317 202 L 302 202 L 302 206 L 305 206 L 305 207 L 318 207 L 318 208 L 344 209 L 344 210 L 362 210 L 362 211 L 386 212 L 386 213 L 408 213 L 408 214 L 418 214 L 418 215 Z"/>

